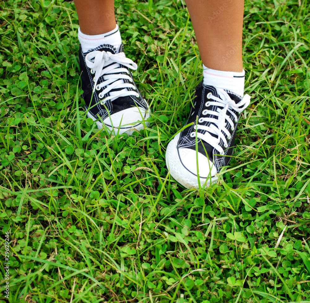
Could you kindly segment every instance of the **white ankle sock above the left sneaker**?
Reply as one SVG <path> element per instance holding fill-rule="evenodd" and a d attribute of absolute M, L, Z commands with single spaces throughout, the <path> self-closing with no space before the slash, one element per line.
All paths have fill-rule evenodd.
<path fill-rule="evenodd" d="M 117 52 L 118 49 L 122 43 L 121 34 L 118 30 L 118 26 L 116 25 L 116 28 L 111 30 L 108 33 L 101 34 L 101 35 L 86 35 L 83 34 L 78 29 L 78 39 L 81 43 L 82 51 L 87 52 L 91 49 L 94 49 L 102 44 L 110 44 L 113 45 Z"/>

